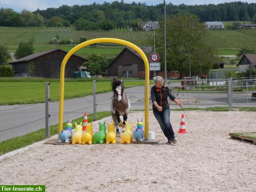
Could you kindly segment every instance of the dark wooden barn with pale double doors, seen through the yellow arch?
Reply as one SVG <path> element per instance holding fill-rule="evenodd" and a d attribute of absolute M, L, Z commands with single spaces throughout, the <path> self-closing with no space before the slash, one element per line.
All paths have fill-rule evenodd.
<path fill-rule="evenodd" d="M 151 48 L 149 49 L 143 51 L 148 53 L 151 51 Z M 143 59 L 137 51 L 130 47 L 125 47 L 108 65 L 108 76 L 143 78 L 144 73 Z"/>

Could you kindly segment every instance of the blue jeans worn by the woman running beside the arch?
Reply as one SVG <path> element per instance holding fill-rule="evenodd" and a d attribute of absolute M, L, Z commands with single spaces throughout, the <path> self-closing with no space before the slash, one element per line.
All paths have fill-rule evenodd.
<path fill-rule="evenodd" d="M 154 116 L 156 117 L 165 137 L 167 137 L 168 140 L 170 140 L 171 138 L 174 138 L 174 132 L 172 129 L 172 125 L 170 123 L 170 110 L 166 109 L 162 112 L 153 111 L 153 113 L 154 113 Z"/>

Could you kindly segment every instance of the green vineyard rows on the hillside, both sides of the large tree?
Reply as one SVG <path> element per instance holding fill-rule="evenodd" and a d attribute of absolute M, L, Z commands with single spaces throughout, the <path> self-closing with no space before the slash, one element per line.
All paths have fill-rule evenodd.
<path fill-rule="evenodd" d="M 168 30 L 168 29 L 167 29 Z M 218 48 L 249 47 L 256 49 L 256 30 L 212 30 L 210 40 Z M 6 45 L 17 45 L 20 41 L 35 40 L 35 44 L 48 44 L 52 38 L 59 40 L 72 39 L 79 41 L 80 37 L 88 40 L 94 38 L 119 38 L 136 45 L 147 45 L 147 39 L 153 37 L 152 32 L 133 31 L 76 31 L 72 27 L 3 27 L 0 26 L 0 42 Z"/>

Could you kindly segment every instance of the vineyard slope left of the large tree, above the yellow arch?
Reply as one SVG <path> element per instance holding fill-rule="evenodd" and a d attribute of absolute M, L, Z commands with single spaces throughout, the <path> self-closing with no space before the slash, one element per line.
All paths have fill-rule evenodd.
<path fill-rule="evenodd" d="M 119 38 L 136 45 L 147 45 L 148 35 L 152 32 L 133 31 L 75 31 L 72 27 L 0 27 L 0 42 L 6 45 L 19 44 L 21 41 L 34 39 L 35 44 L 48 44 L 52 38 L 59 40 L 72 39 L 79 41 L 80 37 L 88 40 L 94 38 Z"/>

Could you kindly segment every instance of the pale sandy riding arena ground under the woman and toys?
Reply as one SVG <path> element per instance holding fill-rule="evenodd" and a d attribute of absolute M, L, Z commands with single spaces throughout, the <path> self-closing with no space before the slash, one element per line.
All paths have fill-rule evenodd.
<path fill-rule="evenodd" d="M 177 133 L 181 111 L 171 111 Z M 230 132 L 256 131 L 255 112 L 188 111 L 187 134 L 167 145 L 150 112 L 157 145 L 45 145 L 0 160 L 0 184 L 61 191 L 256 191 L 256 145 Z M 128 122 L 144 113 L 130 113 Z M 186 116 L 185 116 L 186 118 Z M 111 122 L 111 119 L 108 120 Z M 136 123 L 134 123 L 134 128 Z M 99 125 L 94 124 L 94 131 Z"/>

